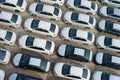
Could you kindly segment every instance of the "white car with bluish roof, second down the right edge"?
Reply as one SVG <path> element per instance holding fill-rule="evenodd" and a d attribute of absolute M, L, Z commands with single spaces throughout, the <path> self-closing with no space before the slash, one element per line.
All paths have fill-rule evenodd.
<path fill-rule="evenodd" d="M 113 19 L 120 21 L 120 9 L 119 8 L 102 6 L 100 8 L 99 14 L 102 17 L 109 17 L 109 18 L 113 18 Z"/>

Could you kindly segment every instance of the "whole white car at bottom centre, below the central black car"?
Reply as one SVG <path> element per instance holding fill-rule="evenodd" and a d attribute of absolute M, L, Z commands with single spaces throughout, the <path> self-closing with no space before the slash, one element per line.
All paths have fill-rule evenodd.
<path fill-rule="evenodd" d="M 71 80 L 89 80 L 91 75 L 88 68 L 78 67 L 63 62 L 55 64 L 53 73 L 55 76 Z"/>

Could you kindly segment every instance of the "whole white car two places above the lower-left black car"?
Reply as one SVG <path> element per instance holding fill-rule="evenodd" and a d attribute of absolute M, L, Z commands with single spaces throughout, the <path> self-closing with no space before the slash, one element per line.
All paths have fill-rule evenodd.
<path fill-rule="evenodd" d="M 52 37 L 56 37 L 59 32 L 59 27 L 57 24 L 33 18 L 28 18 L 24 22 L 24 29 Z"/>

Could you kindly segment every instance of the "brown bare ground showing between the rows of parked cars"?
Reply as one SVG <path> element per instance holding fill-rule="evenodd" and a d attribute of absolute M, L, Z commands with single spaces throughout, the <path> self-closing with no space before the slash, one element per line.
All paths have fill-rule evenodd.
<path fill-rule="evenodd" d="M 33 2 L 36 2 L 35 0 L 27 0 L 28 2 L 28 6 L 33 3 Z M 96 1 L 96 3 L 98 3 Z M 99 4 L 99 7 L 101 6 L 100 3 Z M 64 12 L 67 11 L 67 9 L 65 7 L 62 7 L 63 9 L 63 14 Z M 2 9 L 4 10 L 4 9 Z M 27 8 L 28 10 L 28 8 Z M 7 50 L 9 50 L 11 53 L 12 53 L 12 57 L 10 59 L 10 62 L 9 64 L 7 65 L 0 65 L 0 68 L 5 70 L 6 72 L 6 78 L 5 80 L 8 80 L 8 76 L 12 73 L 12 72 L 18 72 L 18 73 L 23 73 L 23 74 L 27 74 L 27 75 L 31 75 L 31 76 L 35 76 L 35 77 L 41 77 L 43 78 L 44 80 L 67 80 L 67 79 L 63 79 L 63 78 L 58 78 L 58 77 L 55 77 L 52 73 L 52 69 L 53 69 L 53 66 L 56 62 L 67 62 L 67 63 L 71 63 L 71 64 L 77 64 L 77 65 L 81 65 L 81 66 L 86 66 L 88 68 L 91 69 L 92 73 L 94 70 L 103 70 L 103 71 L 107 71 L 107 72 L 113 72 L 113 73 L 117 73 L 117 74 L 120 74 L 120 70 L 115 70 L 115 69 L 112 69 L 112 68 L 108 68 L 108 67 L 102 67 L 102 66 L 97 66 L 92 62 L 81 62 L 81 61 L 75 61 L 75 60 L 71 60 L 71 59 L 65 59 L 65 58 L 61 58 L 61 57 L 58 57 L 57 56 L 57 48 L 60 44 L 62 43 L 66 43 L 66 44 L 72 44 L 74 46 L 78 46 L 78 47 L 83 47 L 83 48 L 87 48 L 87 49 L 91 49 L 94 51 L 94 54 L 97 52 L 97 51 L 103 51 L 103 52 L 110 52 L 111 54 L 115 54 L 115 55 L 120 55 L 118 53 L 115 53 L 115 52 L 111 52 L 111 51 L 106 51 L 106 50 L 100 50 L 100 49 L 97 49 L 95 45 L 93 46 L 86 46 L 86 45 L 82 45 L 82 44 L 78 44 L 78 43 L 75 43 L 75 42 L 70 42 L 70 41 L 64 41 L 60 38 L 60 32 L 61 30 L 64 28 L 64 27 L 75 27 L 75 28 L 79 28 L 79 29 L 82 29 L 82 30 L 85 30 L 83 28 L 80 28 L 78 26 L 72 26 L 72 25 L 66 25 L 64 24 L 62 21 L 60 22 L 56 22 L 56 21 L 50 21 L 48 19 L 44 19 L 44 18 L 38 18 L 38 17 L 32 17 L 28 14 L 28 12 L 24 12 L 24 13 L 17 13 L 17 12 L 13 12 L 13 11 L 9 11 L 9 10 L 5 10 L 5 11 L 9 11 L 9 12 L 12 12 L 12 13 L 16 13 L 16 14 L 20 14 L 23 18 L 23 21 L 22 21 L 22 25 L 21 27 L 19 28 L 10 28 L 10 27 L 7 27 L 7 26 L 4 26 L 4 25 L 0 25 L 0 28 L 4 28 L 4 29 L 9 29 L 9 30 L 12 30 L 14 32 L 16 32 L 17 34 L 17 41 L 16 41 L 16 45 L 14 46 L 8 46 L 8 45 L 3 45 L 1 44 L 0 47 L 2 48 L 5 48 Z M 97 21 L 101 20 L 101 18 L 99 17 L 99 15 L 94 15 L 96 18 L 97 18 Z M 56 38 L 51 38 L 51 37 L 47 37 L 47 36 L 43 36 L 43 35 L 40 35 L 40 34 L 36 34 L 36 33 L 32 33 L 32 32 L 27 32 L 23 29 L 23 23 L 25 21 L 25 19 L 27 18 L 38 18 L 38 19 L 41 19 L 41 20 L 46 20 L 46 21 L 49 21 L 49 22 L 54 22 L 56 24 L 59 25 L 59 28 L 60 28 L 60 31 L 59 31 L 59 35 L 58 37 Z M 97 26 L 97 25 L 96 25 Z M 96 36 L 98 35 L 106 35 L 106 36 L 112 36 L 112 37 L 116 37 L 115 35 L 112 35 L 112 34 L 108 34 L 108 33 L 103 33 L 103 32 L 99 32 L 97 31 L 96 29 L 94 30 L 89 30 L 87 29 L 86 31 L 90 31 L 90 32 L 93 32 L 95 33 Z M 54 54 L 52 55 L 45 55 L 45 54 L 41 54 L 41 53 L 36 53 L 36 52 L 32 52 L 32 51 L 28 51 L 28 50 L 21 50 L 19 49 L 19 47 L 17 46 L 17 42 L 18 42 L 18 39 L 20 36 L 22 35 L 25 35 L 25 34 L 28 34 L 28 35 L 33 35 L 33 36 L 36 36 L 36 37 L 40 37 L 40 38 L 45 38 L 45 39 L 50 39 L 50 40 L 53 40 L 56 44 L 56 49 L 55 49 L 55 52 Z M 119 38 L 120 37 L 116 37 L 116 38 Z M 31 70 L 26 70 L 26 69 L 21 69 L 21 68 L 16 68 L 12 65 L 12 58 L 14 57 L 14 55 L 16 53 L 26 53 L 26 54 L 30 54 L 30 55 L 34 55 L 34 56 L 41 56 L 41 57 L 44 57 L 48 60 L 50 60 L 52 62 L 52 66 L 51 66 L 51 69 L 48 73 L 42 73 L 42 72 L 36 72 L 36 71 L 31 71 Z"/>

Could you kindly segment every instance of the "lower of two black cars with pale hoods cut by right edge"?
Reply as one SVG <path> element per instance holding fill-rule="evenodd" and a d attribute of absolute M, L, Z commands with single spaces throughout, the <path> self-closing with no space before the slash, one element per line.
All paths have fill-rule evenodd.
<path fill-rule="evenodd" d="M 120 56 L 111 55 L 108 53 L 98 52 L 95 56 L 95 63 L 102 66 L 120 68 Z"/>

